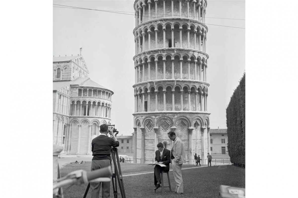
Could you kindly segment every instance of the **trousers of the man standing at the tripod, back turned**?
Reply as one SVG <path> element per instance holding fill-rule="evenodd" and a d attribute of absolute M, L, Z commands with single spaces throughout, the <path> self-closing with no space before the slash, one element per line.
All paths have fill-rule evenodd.
<path fill-rule="evenodd" d="M 111 166 L 111 160 L 92 160 L 91 171 Z M 102 185 L 102 198 L 110 197 L 110 182 L 90 183 L 91 198 L 99 198 L 100 185 Z"/>

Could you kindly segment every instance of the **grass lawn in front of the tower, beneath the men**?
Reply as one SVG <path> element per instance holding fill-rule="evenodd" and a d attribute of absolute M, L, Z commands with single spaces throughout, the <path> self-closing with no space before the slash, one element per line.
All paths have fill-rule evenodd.
<path fill-rule="evenodd" d="M 90 171 L 91 162 L 85 164 L 68 164 L 61 170 L 61 176 L 65 176 L 67 173 L 83 169 Z M 182 168 L 198 167 L 194 165 L 183 165 Z M 171 169 L 171 165 L 170 165 Z M 125 194 L 127 198 L 133 197 L 156 197 L 156 198 L 170 198 L 170 197 L 200 197 L 200 198 L 211 198 L 218 197 L 218 190 L 220 185 L 231 185 L 235 187 L 245 188 L 245 169 L 227 165 L 227 166 L 212 166 L 212 167 L 198 167 L 194 169 L 182 169 L 182 177 L 184 183 L 184 194 L 174 194 L 175 191 L 175 180 L 173 172 L 170 171 L 170 182 L 172 187 L 172 193 L 169 188 L 164 189 L 164 193 L 161 193 L 161 188 L 156 190 L 154 193 L 154 177 L 153 173 L 125 176 L 125 174 L 139 173 L 139 172 L 150 172 L 153 171 L 153 166 L 134 164 L 134 163 L 123 163 L 121 164 L 121 170 L 123 175 L 123 182 L 125 188 Z M 166 174 L 165 185 L 167 185 Z M 87 184 L 73 185 L 71 187 L 64 187 L 63 193 L 65 198 L 79 198 L 83 197 Z M 118 188 L 118 197 L 121 197 Z M 87 197 L 91 197 L 91 189 L 89 189 Z M 100 192 L 101 197 L 101 192 Z M 113 186 L 111 183 L 111 194 L 113 198 Z"/>

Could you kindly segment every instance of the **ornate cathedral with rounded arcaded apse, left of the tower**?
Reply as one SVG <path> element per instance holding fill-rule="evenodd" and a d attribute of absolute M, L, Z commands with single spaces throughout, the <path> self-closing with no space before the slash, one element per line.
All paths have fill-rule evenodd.
<path fill-rule="evenodd" d="M 53 144 L 63 154 L 91 154 L 100 124 L 111 122 L 113 91 L 88 77 L 83 56 L 53 57 Z"/>

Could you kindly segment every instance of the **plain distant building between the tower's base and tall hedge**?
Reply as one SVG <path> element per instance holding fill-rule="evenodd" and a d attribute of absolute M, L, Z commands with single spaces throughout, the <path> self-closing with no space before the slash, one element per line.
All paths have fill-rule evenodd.
<path fill-rule="evenodd" d="M 211 154 L 228 154 L 227 129 L 210 129 L 210 151 Z"/>

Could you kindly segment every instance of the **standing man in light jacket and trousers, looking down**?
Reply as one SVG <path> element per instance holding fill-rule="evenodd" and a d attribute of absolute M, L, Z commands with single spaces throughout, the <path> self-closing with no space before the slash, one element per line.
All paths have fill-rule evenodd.
<path fill-rule="evenodd" d="M 182 164 L 185 162 L 184 146 L 175 132 L 168 132 L 168 137 L 173 141 L 171 149 L 171 164 L 173 168 L 174 179 L 176 182 L 175 193 L 183 193 Z"/>

